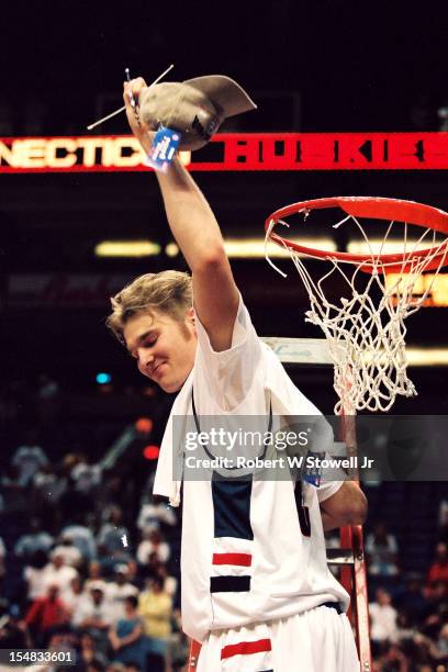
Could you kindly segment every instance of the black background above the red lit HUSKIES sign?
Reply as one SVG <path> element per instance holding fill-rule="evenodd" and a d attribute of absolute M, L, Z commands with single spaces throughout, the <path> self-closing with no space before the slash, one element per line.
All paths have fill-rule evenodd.
<path fill-rule="evenodd" d="M 175 63 L 178 80 L 223 72 L 250 92 L 299 91 L 303 131 L 405 130 L 416 103 L 448 96 L 443 2 L 60 0 L 8 3 L 2 16 L 5 100 L 23 117 L 38 99 L 54 134 L 89 123 L 98 96 L 120 96 L 126 65 L 148 79 Z M 271 122 L 282 130 L 280 113 Z"/>

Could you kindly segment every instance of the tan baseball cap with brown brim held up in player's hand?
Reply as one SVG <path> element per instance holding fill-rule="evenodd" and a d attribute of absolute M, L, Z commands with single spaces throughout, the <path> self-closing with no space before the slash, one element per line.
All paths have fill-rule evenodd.
<path fill-rule="evenodd" d="M 203 147 L 227 116 L 256 108 L 246 91 L 223 75 L 164 82 L 139 94 L 143 122 L 154 131 L 160 126 L 178 131 L 180 149 Z"/>

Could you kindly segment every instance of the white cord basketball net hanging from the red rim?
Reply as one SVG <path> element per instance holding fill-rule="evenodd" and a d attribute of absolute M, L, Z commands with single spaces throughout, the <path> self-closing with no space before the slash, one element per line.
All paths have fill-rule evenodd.
<path fill-rule="evenodd" d="M 304 219 L 311 209 L 302 209 Z M 379 250 L 373 250 L 360 217 L 348 214 L 333 225 L 338 228 L 351 221 L 358 227 L 367 245 L 368 255 L 362 259 L 357 256 L 340 255 L 336 257 L 328 253 L 318 256 L 298 251 L 289 240 L 273 233 L 277 224 L 289 226 L 282 220 L 268 221 L 266 231 L 266 259 L 283 277 L 281 271 L 269 258 L 267 244 L 273 239 L 291 256 L 300 278 L 310 296 L 310 310 L 305 312 L 305 322 L 315 324 L 323 331 L 329 355 L 334 363 L 334 389 L 338 401 L 335 414 L 352 415 L 357 411 L 387 412 L 397 395 L 414 396 L 416 390 L 406 372 L 406 326 L 405 320 L 419 310 L 430 293 L 434 279 L 444 264 L 448 262 L 448 238 L 436 242 L 436 232 L 425 228 L 417 240 L 408 242 L 408 226 L 404 224 L 403 251 L 400 261 L 396 255 L 383 254 L 394 222 L 385 232 Z M 430 243 L 426 254 L 422 246 Z M 313 251 L 313 250 L 311 250 Z M 306 264 L 307 257 L 325 259 L 331 268 L 320 280 L 313 279 Z M 343 257 L 343 258 L 340 258 Z M 397 279 L 393 284 L 387 282 L 387 273 L 393 267 Z M 423 295 L 415 295 L 415 283 L 428 268 L 434 269 L 430 284 Z M 360 272 L 363 271 L 363 272 Z M 366 273 L 368 280 L 366 282 Z M 340 302 L 329 301 L 325 290 L 335 287 L 335 281 L 343 279 L 348 289 L 347 296 Z M 340 282 L 337 283 L 339 285 Z"/>

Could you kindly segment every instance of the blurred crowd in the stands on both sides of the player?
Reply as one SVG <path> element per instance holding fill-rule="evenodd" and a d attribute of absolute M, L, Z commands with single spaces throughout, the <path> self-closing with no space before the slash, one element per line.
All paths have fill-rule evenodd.
<path fill-rule="evenodd" d="M 181 672 L 180 512 L 121 469 L 48 456 L 30 430 L 0 477 L 0 648 L 72 648 L 80 672 Z M 0 528 L 2 529 L 2 527 Z M 448 503 L 434 559 L 403 572 L 396 536 L 367 528 L 374 672 L 448 670 Z M 60 668 L 58 668 L 60 669 Z M 68 669 L 68 668 L 67 668 Z"/>

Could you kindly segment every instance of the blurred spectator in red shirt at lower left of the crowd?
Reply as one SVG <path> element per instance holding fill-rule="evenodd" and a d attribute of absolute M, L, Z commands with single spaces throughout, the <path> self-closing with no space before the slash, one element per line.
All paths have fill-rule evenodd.
<path fill-rule="evenodd" d="M 32 628 L 40 646 L 46 645 L 55 626 L 67 624 L 69 619 L 70 614 L 59 597 L 59 586 L 56 583 L 48 584 L 47 594 L 37 597 L 25 616 L 25 623 Z"/>

